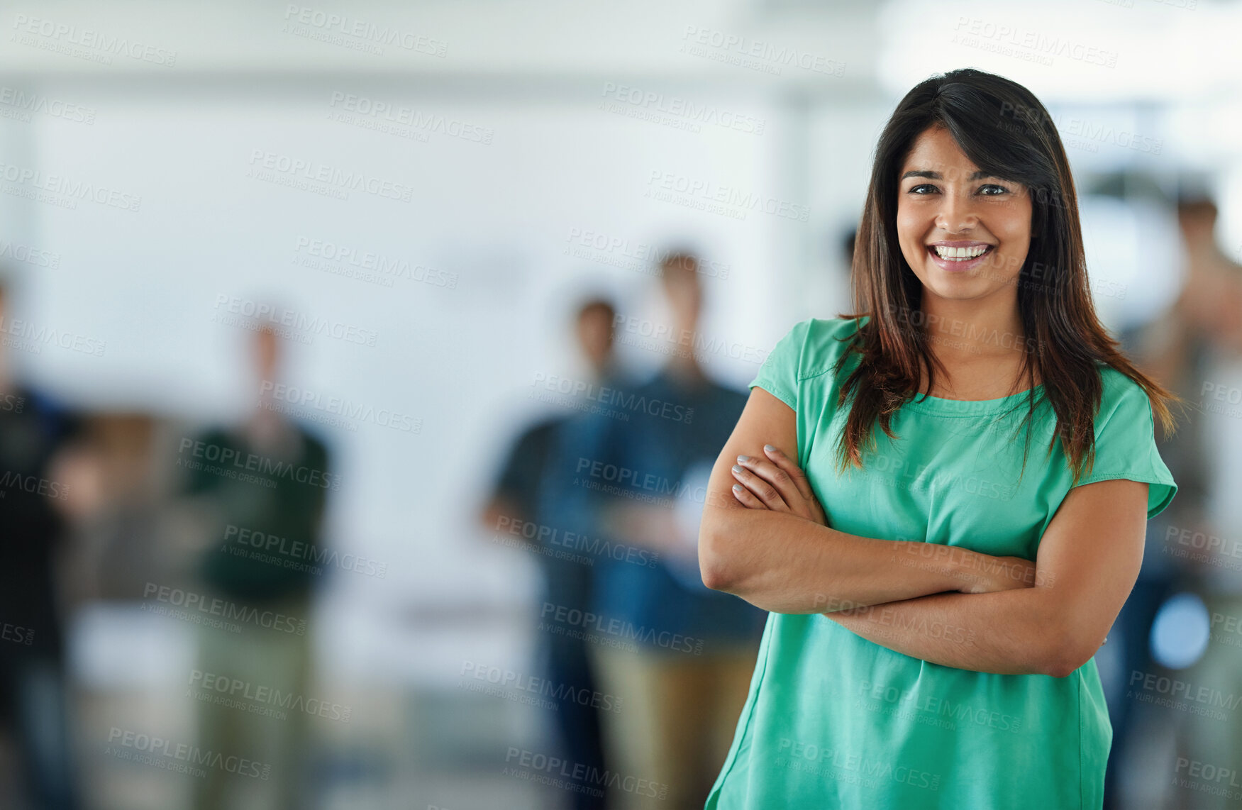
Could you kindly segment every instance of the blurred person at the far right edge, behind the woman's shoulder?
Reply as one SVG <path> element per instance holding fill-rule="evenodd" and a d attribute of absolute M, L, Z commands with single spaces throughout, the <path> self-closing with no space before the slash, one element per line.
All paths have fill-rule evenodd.
<path fill-rule="evenodd" d="M 1242 266 L 1221 252 L 1216 216 L 1216 205 L 1207 199 L 1179 207 L 1189 272 L 1165 343 L 1169 354 L 1187 348 L 1181 349 L 1182 358 L 1165 359 L 1164 366 L 1171 373 L 1179 360 L 1189 360 L 1181 379 L 1207 472 L 1199 508 L 1161 537 L 1170 550 L 1197 558 L 1191 568 L 1200 580 L 1189 585 L 1201 594 L 1211 630 L 1202 657 L 1177 677 L 1237 702 L 1242 696 Z M 1220 714 L 1189 714 L 1181 745 L 1192 762 L 1237 773 L 1242 717 L 1236 711 Z M 1192 806 L 1236 808 L 1236 785 L 1227 786 L 1232 796 L 1195 791 Z"/>

